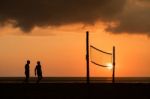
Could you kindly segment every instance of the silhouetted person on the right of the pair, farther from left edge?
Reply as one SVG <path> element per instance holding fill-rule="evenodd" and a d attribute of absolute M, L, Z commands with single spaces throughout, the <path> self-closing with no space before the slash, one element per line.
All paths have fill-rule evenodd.
<path fill-rule="evenodd" d="M 35 67 L 35 76 L 36 75 L 38 76 L 38 80 L 37 80 L 38 83 L 43 78 L 40 61 L 37 61 L 37 65 Z"/>

